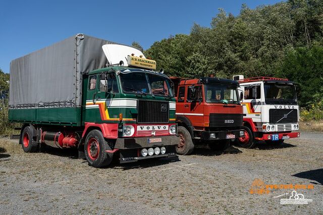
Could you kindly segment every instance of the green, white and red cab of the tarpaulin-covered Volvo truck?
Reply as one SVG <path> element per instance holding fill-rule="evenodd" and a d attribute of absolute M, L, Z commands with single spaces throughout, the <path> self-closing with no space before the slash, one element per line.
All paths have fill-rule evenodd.
<path fill-rule="evenodd" d="M 84 76 L 85 155 L 99 154 L 99 141 L 89 131 L 101 128 L 108 153 L 120 162 L 175 155 L 175 99 L 170 79 L 151 70 L 113 66 Z M 92 139 L 92 141 L 90 140 Z"/>

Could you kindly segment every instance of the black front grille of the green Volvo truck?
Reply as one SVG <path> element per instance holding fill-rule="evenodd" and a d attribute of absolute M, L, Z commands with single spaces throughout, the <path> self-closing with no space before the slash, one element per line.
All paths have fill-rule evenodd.
<path fill-rule="evenodd" d="M 169 102 L 138 101 L 137 123 L 168 123 Z"/>

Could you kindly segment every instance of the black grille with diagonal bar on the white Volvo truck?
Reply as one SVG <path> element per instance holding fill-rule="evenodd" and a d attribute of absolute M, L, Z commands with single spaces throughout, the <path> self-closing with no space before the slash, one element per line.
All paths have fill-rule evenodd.
<path fill-rule="evenodd" d="M 296 109 L 270 109 L 269 123 L 297 123 Z"/>

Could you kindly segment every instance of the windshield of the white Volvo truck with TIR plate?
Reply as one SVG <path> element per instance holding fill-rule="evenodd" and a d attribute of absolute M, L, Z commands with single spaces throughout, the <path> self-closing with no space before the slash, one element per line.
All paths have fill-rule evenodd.
<path fill-rule="evenodd" d="M 264 83 L 264 96 L 266 104 L 297 104 L 292 84 Z"/>

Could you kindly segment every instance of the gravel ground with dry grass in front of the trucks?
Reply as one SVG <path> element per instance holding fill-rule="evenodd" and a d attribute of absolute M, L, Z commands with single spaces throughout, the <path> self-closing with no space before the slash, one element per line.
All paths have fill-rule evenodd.
<path fill-rule="evenodd" d="M 323 134 L 303 133 L 282 146 L 197 148 L 179 160 L 95 169 L 73 151 L 24 153 L 0 140 L 0 213 L 323 214 Z M 308 204 L 282 205 L 292 189 L 250 194 L 253 181 L 311 184 Z M 275 198 L 274 198 L 275 197 Z"/>

